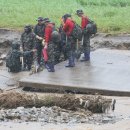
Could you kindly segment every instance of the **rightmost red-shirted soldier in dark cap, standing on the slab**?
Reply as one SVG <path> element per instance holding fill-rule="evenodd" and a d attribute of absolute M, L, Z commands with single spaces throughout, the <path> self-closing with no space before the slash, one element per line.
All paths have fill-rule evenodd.
<path fill-rule="evenodd" d="M 88 17 L 84 15 L 83 10 L 77 10 L 76 14 L 78 15 L 78 17 L 81 17 L 81 28 L 83 31 L 82 44 L 83 44 L 84 57 L 81 59 L 81 61 L 89 61 L 90 60 L 90 36 L 91 34 L 85 31 L 86 26 L 89 22 Z"/>

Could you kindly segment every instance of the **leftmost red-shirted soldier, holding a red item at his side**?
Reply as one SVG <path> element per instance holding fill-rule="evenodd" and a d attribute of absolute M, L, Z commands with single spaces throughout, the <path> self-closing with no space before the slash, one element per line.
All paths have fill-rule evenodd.
<path fill-rule="evenodd" d="M 55 24 L 51 23 L 49 18 L 45 18 L 43 23 L 45 24 L 45 42 L 43 49 L 43 57 L 45 62 L 45 67 L 48 72 L 55 72 L 54 69 L 54 43 L 52 41 L 52 32 Z"/>

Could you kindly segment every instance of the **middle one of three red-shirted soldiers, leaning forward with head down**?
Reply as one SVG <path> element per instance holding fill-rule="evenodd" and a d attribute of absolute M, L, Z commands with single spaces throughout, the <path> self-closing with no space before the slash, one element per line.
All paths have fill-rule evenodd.
<path fill-rule="evenodd" d="M 62 17 L 62 25 L 63 25 L 63 30 L 66 33 L 66 41 L 67 41 L 66 49 L 67 49 L 68 58 L 69 58 L 69 62 L 66 65 L 66 67 L 74 67 L 76 44 L 75 44 L 75 39 L 71 36 L 71 34 L 72 34 L 75 24 L 70 14 L 65 14 Z"/>

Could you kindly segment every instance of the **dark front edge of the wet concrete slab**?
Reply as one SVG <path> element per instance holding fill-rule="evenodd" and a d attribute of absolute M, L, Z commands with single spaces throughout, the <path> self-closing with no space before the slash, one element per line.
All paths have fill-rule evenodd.
<path fill-rule="evenodd" d="M 66 85 L 57 85 L 57 84 L 39 84 L 39 83 L 31 83 L 31 82 L 22 82 L 19 81 L 19 87 L 29 87 L 40 89 L 41 92 L 51 92 L 55 91 L 58 93 L 64 92 L 72 92 L 79 94 L 99 94 L 105 96 L 130 96 L 130 92 L 125 91 L 114 91 L 114 90 L 106 90 L 106 89 L 93 89 L 93 88 L 83 88 L 77 86 L 66 86 Z"/>

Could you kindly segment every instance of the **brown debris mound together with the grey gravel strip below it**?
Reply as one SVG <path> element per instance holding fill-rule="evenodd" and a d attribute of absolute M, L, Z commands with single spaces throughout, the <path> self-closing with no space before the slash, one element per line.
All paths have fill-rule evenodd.
<path fill-rule="evenodd" d="M 88 118 L 93 121 L 92 116 L 94 113 L 110 111 L 111 105 L 112 99 L 99 95 L 76 97 L 74 94 L 66 94 L 41 97 L 15 91 L 1 92 L 0 121 L 44 120 L 44 122 L 48 123 L 69 123 L 73 120 L 75 123 L 85 123 L 88 122 Z"/>

